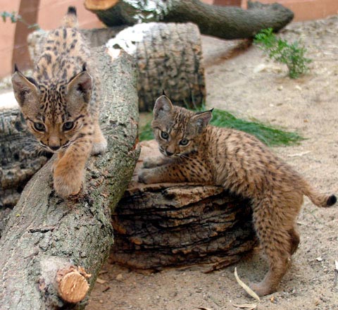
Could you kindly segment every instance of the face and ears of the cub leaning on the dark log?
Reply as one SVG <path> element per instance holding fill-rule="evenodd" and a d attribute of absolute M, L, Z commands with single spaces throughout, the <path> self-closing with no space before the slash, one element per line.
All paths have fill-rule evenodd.
<path fill-rule="evenodd" d="M 211 119 L 211 111 L 183 114 L 174 113 L 173 109 L 168 97 L 159 97 L 151 126 L 163 155 L 184 157 L 199 149 L 201 133 Z"/>

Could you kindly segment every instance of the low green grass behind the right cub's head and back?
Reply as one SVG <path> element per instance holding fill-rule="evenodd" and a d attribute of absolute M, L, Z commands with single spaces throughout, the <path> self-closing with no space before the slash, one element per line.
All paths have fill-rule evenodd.
<path fill-rule="evenodd" d="M 201 109 L 195 109 L 194 111 L 205 111 L 205 106 L 202 106 Z M 287 132 L 280 128 L 263 124 L 258 120 L 243 120 L 232 115 L 230 112 L 220 109 L 213 109 L 211 125 L 248 132 L 251 135 L 255 135 L 259 140 L 270 147 L 297 144 L 299 141 L 303 140 L 303 137 L 298 135 L 296 132 Z M 154 136 L 151 130 L 151 123 L 149 122 L 140 128 L 139 140 L 143 141 L 151 139 L 154 139 Z"/>

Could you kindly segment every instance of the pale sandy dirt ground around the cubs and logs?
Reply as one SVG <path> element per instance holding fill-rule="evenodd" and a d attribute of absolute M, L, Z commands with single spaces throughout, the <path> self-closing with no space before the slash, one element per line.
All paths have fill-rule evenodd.
<path fill-rule="evenodd" d="M 311 71 L 291 80 L 284 66 L 263 56 L 257 46 L 233 53 L 239 41 L 203 37 L 207 104 L 242 118 L 257 118 L 307 140 L 274 151 L 323 192 L 338 193 L 338 17 L 292 23 L 282 32 L 288 41 L 301 39 L 313 59 Z M 235 54 L 235 55 L 234 55 Z M 230 57 L 230 55 L 232 55 Z M 233 304 L 257 304 L 256 309 L 338 309 L 334 261 L 338 261 L 338 207 L 318 209 L 306 199 L 299 216 L 301 244 L 292 268 L 275 294 L 248 297 L 234 278 L 259 281 L 267 270 L 258 252 L 213 273 L 201 267 L 169 269 L 143 275 L 106 263 L 88 310 L 239 309 Z M 101 281 L 102 282 L 102 281 Z"/>

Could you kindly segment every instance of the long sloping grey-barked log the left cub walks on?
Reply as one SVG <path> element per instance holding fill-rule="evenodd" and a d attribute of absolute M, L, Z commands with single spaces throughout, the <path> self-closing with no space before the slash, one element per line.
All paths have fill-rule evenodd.
<path fill-rule="evenodd" d="M 113 243 L 111 211 L 139 155 L 136 70 L 123 51 L 100 48 L 94 57 L 108 151 L 89 159 L 86 187 L 73 199 L 53 190 L 54 158 L 27 183 L 0 239 L 1 309 L 83 309 L 85 299 L 75 302 L 93 287 Z"/>

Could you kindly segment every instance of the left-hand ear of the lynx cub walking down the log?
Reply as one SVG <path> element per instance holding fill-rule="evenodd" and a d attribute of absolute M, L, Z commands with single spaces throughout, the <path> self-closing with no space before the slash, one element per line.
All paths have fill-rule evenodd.
<path fill-rule="evenodd" d="M 16 65 L 12 75 L 12 85 L 15 99 L 20 106 L 37 102 L 39 97 L 37 82 L 32 77 L 25 77 L 20 73 Z"/>

